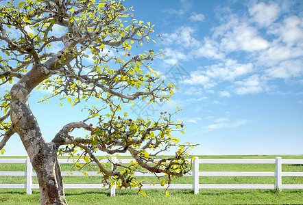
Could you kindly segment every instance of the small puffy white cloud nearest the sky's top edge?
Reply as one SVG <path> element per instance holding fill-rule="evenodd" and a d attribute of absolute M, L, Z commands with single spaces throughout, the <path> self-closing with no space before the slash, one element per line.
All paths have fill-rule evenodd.
<path fill-rule="evenodd" d="M 249 12 L 259 25 L 267 27 L 277 20 L 280 7 L 276 3 L 267 5 L 266 3 L 261 2 L 249 8 Z"/>

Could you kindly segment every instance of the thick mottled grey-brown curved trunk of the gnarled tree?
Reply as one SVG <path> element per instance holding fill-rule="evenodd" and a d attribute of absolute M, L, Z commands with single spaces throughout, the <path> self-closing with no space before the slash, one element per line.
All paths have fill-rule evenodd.
<path fill-rule="evenodd" d="M 55 166 L 58 146 L 53 142 L 47 143 L 43 139 L 38 122 L 28 105 L 29 93 L 37 83 L 46 78 L 45 70 L 34 66 L 12 87 L 10 102 L 12 127 L 19 134 L 37 173 L 40 204 L 66 204 L 60 167 Z"/>

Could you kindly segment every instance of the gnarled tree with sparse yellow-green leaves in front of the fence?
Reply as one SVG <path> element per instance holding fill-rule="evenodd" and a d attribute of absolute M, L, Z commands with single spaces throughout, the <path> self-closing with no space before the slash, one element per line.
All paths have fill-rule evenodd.
<path fill-rule="evenodd" d="M 160 81 L 147 63 L 162 51 L 130 53 L 134 44 L 155 41 L 149 38 L 152 27 L 135 20 L 132 8 L 116 1 L 33 0 L 18 5 L 8 2 L 0 8 L 0 49 L 5 54 L 0 61 L 0 85 L 12 84 L 1 95 L 0 150 L 3 154 L 8 139 L 14 133 L 19 135 L 37 173 L 41 204 L 67 204 L 60 154 L 85 159 L 86 165 L 75 163 L 80 169 L 95 163 L 105 185 L 138 187 L 141 193 L 142 184 L 134 177 L 138 169 L 165 173 L 161 184 L 189 172 L 184 156 L 193 146 L 171 137 L 172 131 L 184 128 L 182 122 L 172 121 L 175 113 L 161 113 L 159 120 L 145 121 L 128 119 L 122 112 L 123 105 L 135 100 L 155 103 L 173 94 L 174 86 Z M 54 29 L 61 29 L 62 35 L 53 36 Z M 60 49 L 54 51 L 53 46 Z M 39 87 L 52 91 L 43 102 L 56 97 L 75 106 L 97 98 L 101 108 L 86 107 L 88 118 L 66 124 L 46 142 L 28 105 L 29 94 Z M 86 123 L 91 118 L 98 119 L 97 126 Z M 75 128 L 88 134 L 73 137 Z M 177 147 L 175 156 L 158 156 L 171 147 Z M 98 150 L 110 155 L 128 152 L 134 163 L 114 163 L 110 169 L 95 156 Z"/>

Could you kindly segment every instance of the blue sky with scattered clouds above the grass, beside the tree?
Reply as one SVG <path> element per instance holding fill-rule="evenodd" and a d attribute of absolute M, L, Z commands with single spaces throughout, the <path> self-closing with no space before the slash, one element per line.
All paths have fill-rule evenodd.
<path fill-rule="evenodd" d="M 155 25 L 162 41 L 144 49 L 167 51 L 152 68 L 180 87 L 161 105 L 126 107 L 130 115 L 157 119 L 181 107 L 175 118 L 186 130 L 176 136 L 199 143 L 193 154 L 303 154 L 303 1 L 123 4 Z M 85 118 L 75 112 L 82 107 L 36 104 L 43 96 L 36 91 L 29 102 L 47 141 Z M 16 135 L 5 150 L 25 155 Z"/>

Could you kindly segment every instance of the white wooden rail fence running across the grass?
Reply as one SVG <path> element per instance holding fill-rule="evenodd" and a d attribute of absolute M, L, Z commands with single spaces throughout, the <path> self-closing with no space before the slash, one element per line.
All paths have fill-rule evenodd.
<path fill-rule="evenodd" d="M 72 160 L 59 159 L 59 163 L 73 163 Z M 112 157 L 112 161 L 117 159 Z M 119 159 L 121 163 L 130 163 L 132 159 Z M 103 160 L 101 162 L 108 162 Z M 26 176 L 26 184 L 0 184 L 0 189 L 26 189 L 27 194 L 32 194 L 32 189 L 39 189 L 38 184 L 32 184 L 32 164 L 27 159 L 0 159 L 0 163 L 27 163 L 26 172 L 0 172 L 1 176 Z M 85 163 L 80 160 L 79 163 Z M 199 164 L 276 164 L 276 172 L 199 172 Z M 170 184 L 170 189 L 303 189 L 303 184 L 282 184 L 282 176 L 303 176 L 303 172 L 282 172 L 282 164 L 303 164 L 303 159 L 196 159 L 193 161 L 193 172 L 186 176 L 193 176 L 193 184 Z M 82 172 L 62 172 L 62 176 L 84 176 Z M 97 172 L 86 172 L 88 176 L 100 176 Z M 135 176 L 154 176 L 151 173 L 136 172 Z M 157 174 L 157 176 L 160 176 Z M 185 177 L 186 177 L 185 176 Z M 199 176 L 275 176 L 276 184 L 199 184 Z M 108 188 L 108 187 L 107 187 Z M 143 184 L 143 189 L 163 189 L 160 184 Z M 64 184 L 64 189 L 104 189 L 103 184 Z M 110 194 L 115 195 L 115 186 L 112 186 Z"/>

